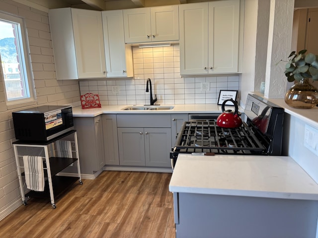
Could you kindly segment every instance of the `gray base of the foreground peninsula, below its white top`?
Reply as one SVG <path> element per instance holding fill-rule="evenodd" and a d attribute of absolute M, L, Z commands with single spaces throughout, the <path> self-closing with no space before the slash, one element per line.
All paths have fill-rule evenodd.
<path fill-rule="evenodd" d="M 315 200 L 173 192 L 173 209 L 176 238 L 317 237 Z"/>

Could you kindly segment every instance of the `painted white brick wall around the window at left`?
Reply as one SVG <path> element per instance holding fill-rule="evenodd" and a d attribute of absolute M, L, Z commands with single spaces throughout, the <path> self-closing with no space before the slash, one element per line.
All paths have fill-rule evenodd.
<path fill-rule="evenodd" d="M 51 104 L 79 106 L 78 80 L 57 81 L 55 75 L 48 13 L 12 0 L 0 0 L 0 11 L 22 17 L 28 34 L 36 103 L 28 107 Z M 16 204 L 22 204 L 12 148 L 14 138 L 11 113 L 5 103 L 0 76 L 0 220 Z M 14 111 L 23 109 L 16 107 Z"/>

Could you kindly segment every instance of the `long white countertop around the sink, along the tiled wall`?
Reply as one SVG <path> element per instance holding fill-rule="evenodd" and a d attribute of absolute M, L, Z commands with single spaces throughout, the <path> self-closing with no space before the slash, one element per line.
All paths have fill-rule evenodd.
<path fill-rule="evenodd" d="M 156 110 L 156 111 L 145 111 L 145 110 L 132 110 L 125 111 L 122 108 L 129 107 L 132 105 L 110 105 L 102 106 L 101 108 L 95 109 L 81 109 L 81 107 L 73 108 L 74 117 L 96 117 L 101 114 L 174 114 L 174 113 L 221 113 L 222 107 L 217 104 L 189 104 L 189 105 L 172 105 L 174 106 L 171 110 Z M 165 106 L 165 105 L 160 105 Z M 171 106 L 171 105 L 166 105 Z M 231 107 L 233 108 L 233 107 Z M 243 109 L 239 108 L 239 112 L 243 113 Z"/>

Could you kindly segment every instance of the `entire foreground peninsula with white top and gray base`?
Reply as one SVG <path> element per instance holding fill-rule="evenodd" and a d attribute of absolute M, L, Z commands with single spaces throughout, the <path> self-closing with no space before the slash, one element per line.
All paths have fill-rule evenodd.
<path fill-rule="evenodd" d="M 315 238 L 318 184 L 283 156 L 179 154 L 176 238 Z"/>

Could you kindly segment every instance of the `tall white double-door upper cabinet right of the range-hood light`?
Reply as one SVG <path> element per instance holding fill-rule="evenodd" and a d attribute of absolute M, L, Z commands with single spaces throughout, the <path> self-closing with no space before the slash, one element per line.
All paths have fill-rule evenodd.
<path fill-rule="evenodd" d="M 179 6 L 180 73 L 238 72 L 239 0 Z"/>

